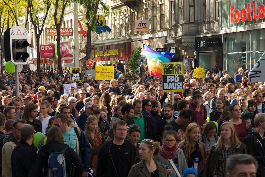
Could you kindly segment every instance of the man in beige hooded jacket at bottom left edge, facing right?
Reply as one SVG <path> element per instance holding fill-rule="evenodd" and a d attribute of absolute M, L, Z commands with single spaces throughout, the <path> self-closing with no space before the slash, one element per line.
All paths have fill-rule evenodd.
<path fill-rule="evenodd" d="M 13 124 L 13 131 L 9 133 L 3 140 L 2 147 L 2 177 L 11 177 L 11 155 L 14 148 L 18 145 L 21 135 L 20 129 L 23 125 L 26 125 L 26 121 L 19 119 Z"/>

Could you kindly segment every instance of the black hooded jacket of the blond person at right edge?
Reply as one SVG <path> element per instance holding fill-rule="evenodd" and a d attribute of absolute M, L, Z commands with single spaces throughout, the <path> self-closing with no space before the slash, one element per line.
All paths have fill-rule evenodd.
<path fill-rule="evenodd" d="M 262 138 L 259 133 L 256 132 L 256 127 L 252 127 L 243 143 L 247 146 L 247 153 L 252 155 L 258 162 L 259 167 L 257 169 L 257 176 L 264 176 L 265 170 L 265 138 Z"/>

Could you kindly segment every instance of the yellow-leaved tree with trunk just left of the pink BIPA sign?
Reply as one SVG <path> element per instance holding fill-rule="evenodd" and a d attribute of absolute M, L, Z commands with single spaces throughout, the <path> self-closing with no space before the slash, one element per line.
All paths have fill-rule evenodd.
<path fill-rule="evenodd" d="M 29 4 L 29 13 L 30 13 L 30 19 L 35 29 L 35 35 L 36 35 L 36 45 L 37 45 L 37 71 L 38 73 L 41 70 L 40 67 L 40 37 L 44 28 L 44 24 L 46 21 L 46 18 L 48 16 L 48 12 L 51 6 L 51 3 L 49 0 L 44 0 L 42 2 L 38 2 L 38 8 L 36 8 L 36 3 L 33 2 L 33 0 L 28 0 Z M 44 18 L 40 25 L 40 20 L 38 17 L 38 14 L 44 13 Z M 41 27 L 40 27 L 41 26 Z"/>

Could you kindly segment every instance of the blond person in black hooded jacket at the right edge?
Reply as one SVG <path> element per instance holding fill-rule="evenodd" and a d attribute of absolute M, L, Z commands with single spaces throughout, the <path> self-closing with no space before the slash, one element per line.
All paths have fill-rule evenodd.
<path fill-rule="evenodd" d="M 252 155 L 259 164 L 257 170 L 257 176 L 264 176 L 265 168 L 265 113 L 259 113 L 255 116 L 254 124 L 256 127 L 252 127 L 248 131 L 247 136 L 243 140 L 243 143 L 247 146 L 247 153 Z"/>

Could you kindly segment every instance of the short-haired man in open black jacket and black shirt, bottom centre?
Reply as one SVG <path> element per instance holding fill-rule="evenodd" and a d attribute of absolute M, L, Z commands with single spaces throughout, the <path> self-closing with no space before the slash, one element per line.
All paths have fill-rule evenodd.
<path fill-rule="evenodd" d="M 114 139 L 102 144 L 97 154 L 97 177 L 128 176 L 133 164 L 137 163 L 137 147 L 125 139 L 127 123 L 118 120 L 112 127 Z"/>

